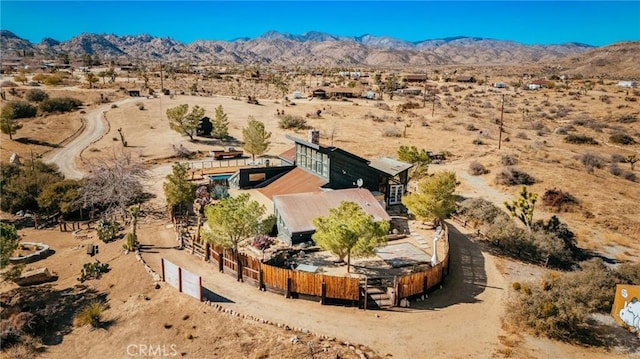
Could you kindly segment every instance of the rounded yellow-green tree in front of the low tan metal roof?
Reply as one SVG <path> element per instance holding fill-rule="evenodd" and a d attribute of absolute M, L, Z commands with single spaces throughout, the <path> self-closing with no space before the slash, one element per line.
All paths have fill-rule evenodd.
<path fill-rule="evenodd" d="M 351 256 L 367 257 L 386 244 L 388 221 L 374 221 L 357 203 L 343 201 L 329 215 L 313 219 L 316 232 L 312 238 L 321 248 L 347 259 L 347 272 L 351 271 Z"/>

